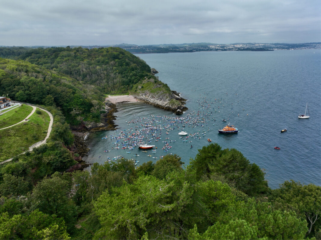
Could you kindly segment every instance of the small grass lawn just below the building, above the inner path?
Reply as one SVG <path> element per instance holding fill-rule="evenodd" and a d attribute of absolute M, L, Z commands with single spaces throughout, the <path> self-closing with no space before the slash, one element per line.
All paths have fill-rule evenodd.
<path fill-rule="evenodd" d="M 32 111 L 32 107 L 26 104 L 11 109 L 9 112 L 0 116 L 0 128 L 8 127 L 13 124 L 19 123 L 25 119 Z"/>

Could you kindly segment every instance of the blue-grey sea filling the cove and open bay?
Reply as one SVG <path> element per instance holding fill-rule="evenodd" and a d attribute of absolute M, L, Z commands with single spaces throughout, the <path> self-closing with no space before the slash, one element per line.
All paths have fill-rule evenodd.
<path fill-rule="evenodd" d="M 187 99 L 188 110 L 178 116 L 141 102 L 118 104 L 117 130 L 91 133 L 87 138 L 91 150 L 84 160 L 104 164 L 118 156 L 134 159 L 137 167 L 176 154 L 186 167 L 198 149 L 210 144 L 209 138 L 257 164 L 272 189 L 286 180 L 320 186 L 320 53 L 315 49 L 135 54 L 158 70 L 160 81 Z M 307 103 L 310 118 L 299 119 Z M 227 124 L 239 132 L 219 133 Z M 146 131 L 145 125 L 155 128 Z M 121 148 L 137 130 L 156 152 Z M 188 132 L 189 138 L 180 138 L 180 131 Z M 120 139 L 123 134 L 126 137 Z"/>

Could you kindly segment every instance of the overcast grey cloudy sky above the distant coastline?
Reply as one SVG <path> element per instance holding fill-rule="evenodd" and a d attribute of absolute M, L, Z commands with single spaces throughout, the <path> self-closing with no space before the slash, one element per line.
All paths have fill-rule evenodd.
<path fill-rule="evenodd" d="M 321 41 L 320 0 L 0 0 L 0 45 Z"/>

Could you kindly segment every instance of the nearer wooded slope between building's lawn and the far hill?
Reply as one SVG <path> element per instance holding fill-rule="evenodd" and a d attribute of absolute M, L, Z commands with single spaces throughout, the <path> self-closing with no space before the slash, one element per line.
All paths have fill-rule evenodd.
<path fill-rule="evenodd" d="M 100 119 L 103 96 L 96 86 L 26 61 L 0 59 L 0 70 L 0 95 L 33 104 L 57 106 L 70 124 L 80 123 L 77 116 L 90 121 Z M 92 101 L 100 108 L 95 108 Z"/>

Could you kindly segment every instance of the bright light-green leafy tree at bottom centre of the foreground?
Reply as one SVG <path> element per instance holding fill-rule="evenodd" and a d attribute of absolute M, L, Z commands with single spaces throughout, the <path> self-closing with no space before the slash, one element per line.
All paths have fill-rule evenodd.
<path fill-rule="evenodd" d="M 184 230 L 178 217 L 191 201 L 191 193 L 188 185 L 178 186 L 173 180 L 167 182 L 153 176 L 115 188 L 111 195 L 105 192 L 95 203 L 102 225 L 96 237 L 137 239 L 145 232 L 149 238 L 178 237 Z"/>

